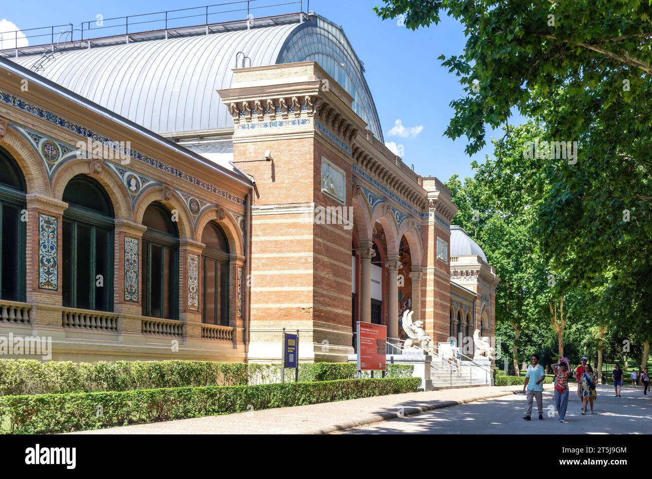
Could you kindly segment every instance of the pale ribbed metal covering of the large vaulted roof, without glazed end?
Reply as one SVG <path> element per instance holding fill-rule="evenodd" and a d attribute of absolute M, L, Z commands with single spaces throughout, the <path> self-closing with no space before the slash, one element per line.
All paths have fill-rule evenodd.
<path fill-rule="evenodd" d="M 297 24 L 60 52 L 38 73 L 157 133 L 228 128 L 216 93 L 229 88 L 235 56 L 274 65 Z M 14 59 L 31 68 L 41 55 Z"/>

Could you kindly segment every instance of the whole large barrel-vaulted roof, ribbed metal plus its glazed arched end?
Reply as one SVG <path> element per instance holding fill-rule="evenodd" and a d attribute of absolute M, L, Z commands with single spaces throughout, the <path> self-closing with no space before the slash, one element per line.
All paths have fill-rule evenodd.
<path fill-rule="evenodd" d="M 303 23 L 63 51 L 15 59 L 111 111 L 160 134 L 232 128 L 216 93 L 231 87 L 236 55 L 251 66 L 316 61 L 348 91 L 351 106 L 383 141 L 364 66 L 340 27 L 319 16 Z M 246 66 L 249 66 L 248 61 Z"/>

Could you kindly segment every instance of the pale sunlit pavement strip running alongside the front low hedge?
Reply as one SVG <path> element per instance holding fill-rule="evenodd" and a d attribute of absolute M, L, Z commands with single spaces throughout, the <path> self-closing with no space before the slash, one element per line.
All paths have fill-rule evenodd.
<path fill-rule="evenodd" d="M 551 385 L 546 385 L 552 388 Z M 432 409 L 466 404 L 480 399 L 514 396 L 523 386 L 483 386 L 431 392 L 394 394 L 334 403 L 283 407 L 209 416 L 205 418 L 139 424 L 76 434 L 320 434 L 363 424 L 405 417 Z M 453 408 L 455 409 L 455 408 Z M 405 419 L 402 419 L 405 420 Z M 383 423 L 385 424 L 385 423 Z"/>

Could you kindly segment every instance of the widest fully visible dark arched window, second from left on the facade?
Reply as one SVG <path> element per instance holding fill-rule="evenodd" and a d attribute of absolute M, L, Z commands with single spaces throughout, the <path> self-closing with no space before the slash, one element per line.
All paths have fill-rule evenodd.
<path fill-rule="evenodd" d="M 86 175 L 63 190 L 63 306 L 113 311 L 113 205 Z"/>

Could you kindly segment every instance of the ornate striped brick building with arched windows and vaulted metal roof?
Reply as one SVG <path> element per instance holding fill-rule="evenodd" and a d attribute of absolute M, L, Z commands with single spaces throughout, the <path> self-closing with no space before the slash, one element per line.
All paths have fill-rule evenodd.
<path fill-rule="evenodd" d="M 203 26 L 202 26 L 203 28 Z M 0 334 L 53 358 L 341 361 L 494 334 L 499 278 L 316 14 L 0 51 Z M 53 48 L 53 46 L 52 46 Z M 5 58 L 7 57 L 7 58 Z"/>

